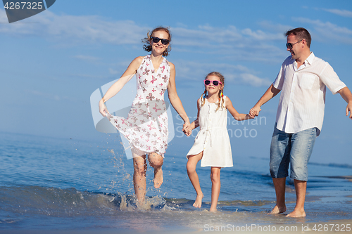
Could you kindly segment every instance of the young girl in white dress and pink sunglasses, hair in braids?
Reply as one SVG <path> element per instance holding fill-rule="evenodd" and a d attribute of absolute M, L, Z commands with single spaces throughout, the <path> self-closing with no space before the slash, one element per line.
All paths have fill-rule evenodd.
<path fill-rule="evenodd" d="M 200 208 L 203 193 L 199 185 L 196 164 L 201 160 L 201 167 L 211 167 L 211 206 L 210 212 L 216 211 L 220 194 L 220 169 L 232 167 L 232 153 L 229 134 L 227 133 L 227 110 L 236 120 L 252 119 L 249 115 L 239 114 L 232 106 L 230 98 L 223 95 L 224 77 L 219 72 L 210 72 L 204 79 L 206 90 L 197 100 L 197 119 L 185 131 L 188 136 L 191 129 L 201 126 L 194 140 L 194 145 L 187 154 L 187 174 L 196 190 L 197 196 L 193 206 Z"/>

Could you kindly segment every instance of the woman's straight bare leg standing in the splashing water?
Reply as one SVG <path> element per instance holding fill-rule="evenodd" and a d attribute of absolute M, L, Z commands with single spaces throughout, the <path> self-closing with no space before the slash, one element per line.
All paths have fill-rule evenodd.
<path fill-rule="evenodd" d="M 133 185 L 137 197 L 137 207 L 144 204 L 146 196 L 146 155 L 133 154 Z"/>

